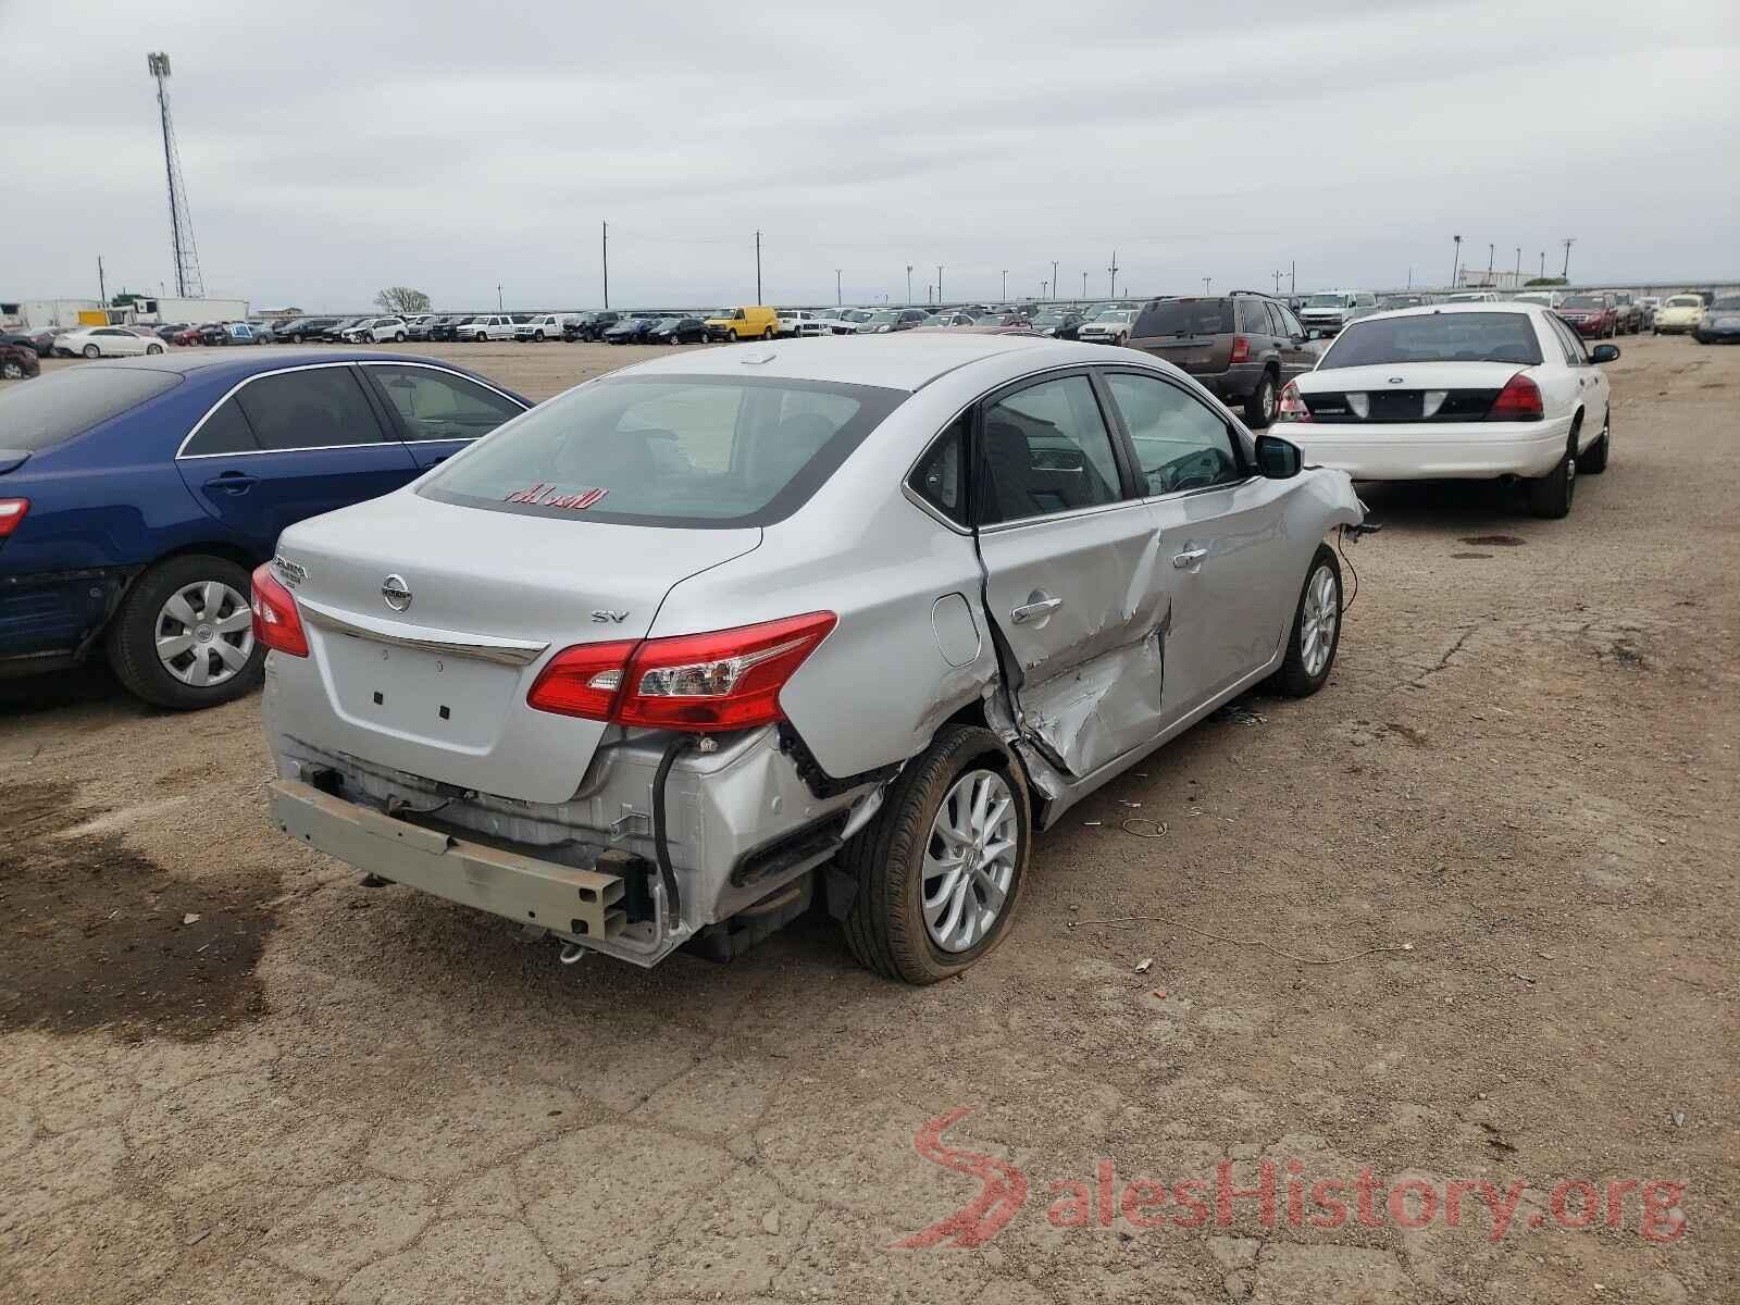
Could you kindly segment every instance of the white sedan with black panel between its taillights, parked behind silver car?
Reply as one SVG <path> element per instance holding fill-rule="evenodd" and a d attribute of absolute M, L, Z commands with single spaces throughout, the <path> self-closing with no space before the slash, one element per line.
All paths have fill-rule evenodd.
<path fill-rule="evenodd" d="M 1307 461 L 1355 480 L 1514 477 L 1535 515 L 1563 517 L 1576 473 L 1606 470 L 1610 390 L 1597 364 L 1618 355 L 1616 345 L 1590 353 L 1533 303 L 1375 313 L 1288 383 L 1279 421 Z"/>

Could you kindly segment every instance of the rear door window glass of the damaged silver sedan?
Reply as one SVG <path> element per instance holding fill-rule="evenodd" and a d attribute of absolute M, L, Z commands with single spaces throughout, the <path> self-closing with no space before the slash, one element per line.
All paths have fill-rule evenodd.
<path fill-rule="evenodd" d="M 1122 498 L 1112 435 L 1086 376 L 1018 390 L 985 411 L 988 522 L 1093 508 Z"/>

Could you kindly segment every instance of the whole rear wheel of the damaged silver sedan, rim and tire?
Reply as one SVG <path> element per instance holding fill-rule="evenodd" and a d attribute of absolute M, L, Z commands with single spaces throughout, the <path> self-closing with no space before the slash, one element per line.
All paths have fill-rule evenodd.
<path fill-rule="evenodd" d="M 1032 844 L 1027 781 L 988 729 L 948 726 L 840 853 L 856 880 L 846 941 L 891 980 L 936 983 L 1009 931 Z"/>

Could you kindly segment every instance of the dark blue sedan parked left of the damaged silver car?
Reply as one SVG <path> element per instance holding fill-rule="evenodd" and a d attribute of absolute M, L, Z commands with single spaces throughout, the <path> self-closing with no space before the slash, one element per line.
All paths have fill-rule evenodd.
<path fill-rule="evenodd" d="M 0 392 L 0 675 L 103 649 L 139 698 L 259 684 L 249 572 L 531 407 L 430 358 L 308 350 L 90 362 Z"/>

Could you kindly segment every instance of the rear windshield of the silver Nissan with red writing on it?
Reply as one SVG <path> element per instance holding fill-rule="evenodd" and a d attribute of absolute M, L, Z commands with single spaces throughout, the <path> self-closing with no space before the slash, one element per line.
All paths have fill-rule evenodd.
<path fill-rule="evenodd" d="M 418 492 L 531 517 L 771 525 L 907 392 L 736 376 L 616 376 L 543 404 Z"/>

